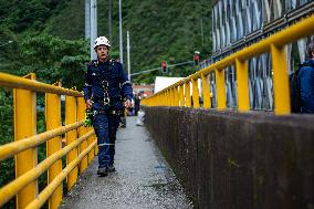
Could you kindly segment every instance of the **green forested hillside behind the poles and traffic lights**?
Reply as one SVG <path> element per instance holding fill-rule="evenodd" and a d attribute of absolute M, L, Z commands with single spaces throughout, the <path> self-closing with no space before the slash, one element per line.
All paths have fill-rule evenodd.
<path fill-rule="evenodd" d="M 6 65 L 8 60 L 15 62 L 20 53 L 17 49 L 23 50 L 19 43 L 24 39 L 53 35 L 61 40 L 84 40 L 84 0 L 22 2 L 0 0 L 0 42 L 15 41 L 0 52 L 0 61 L 4 63 L 0 70 L 10 67 L 10 64 Z M 98 0 L 98 35 L 108 35 L 107 3 Z M 113 50 L 118 50 L 118 0 L 112 0 L 112 3 L 111 41 Z M 123 1 L 124 63 L 127 30 L 130 33 L 132 72 L 160 66 L 160 62 L 169 61 L 169 58 L 175 58 L 176 63 L 192 60 L 196 50 L 201 52 L 201 59 L 207 58 L 211 51 L 210 12 L 211 3 L 207 0 Z M 21 65 L 19 62 L 14 67 Z M 176 67 L 171 75 L 186 76 L 196 70 L 192 65 Z M 138 76 L 136 81 L 153 82 L 155 74 Z"/>

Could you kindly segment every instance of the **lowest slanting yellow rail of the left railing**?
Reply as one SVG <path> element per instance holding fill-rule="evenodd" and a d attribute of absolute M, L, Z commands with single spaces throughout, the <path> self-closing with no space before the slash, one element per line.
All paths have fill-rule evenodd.
<path fill-rule="evenodd" d="M 56 178 L 48 186 L 45 187 L 25 209 L 36 209 L 41 208 L 42 205 L 46 201 L 46 199 L 51 196 L 51 194 L 54 191 L 54 189 L 66 178 L 66 176 L 76 168 L 77 164 L 82 160 L 84 156 L 87 155 L 96 145 L 96 142 L 91 144 L 83 153 L 81 153 L 75 160 L 73 160 L 71 164 L 69 164 L 64 169 L 63 173 L 59 174 Z"/>

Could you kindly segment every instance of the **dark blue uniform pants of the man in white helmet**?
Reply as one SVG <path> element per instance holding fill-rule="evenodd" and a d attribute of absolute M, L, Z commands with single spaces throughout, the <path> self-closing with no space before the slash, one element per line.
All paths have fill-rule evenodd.
<path fill-rule="evenodd" d="M 116 132 L 119 116 L 111 114 L 96 114 L 93 119 L 97 136 L 100 168 L 114 164 Z"/>

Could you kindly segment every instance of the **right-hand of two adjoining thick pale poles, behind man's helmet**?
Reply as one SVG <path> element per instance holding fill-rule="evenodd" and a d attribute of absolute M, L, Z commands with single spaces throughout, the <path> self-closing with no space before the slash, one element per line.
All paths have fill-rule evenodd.
<path fill-rule="evenodd" d="M 91 60 L 97 58 L 94 51 L 94 41 L 97 38 L 97 0 L 91 0 Z"/>

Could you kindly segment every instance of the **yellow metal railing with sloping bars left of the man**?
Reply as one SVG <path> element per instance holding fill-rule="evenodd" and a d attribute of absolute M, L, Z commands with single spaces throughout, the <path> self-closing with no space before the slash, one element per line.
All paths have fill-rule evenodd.
<path fill-rule="evenodd" d="M 95 134 L 84 127 L 83 94 L 35 81 L 34 74 L 19 77 L 0 73 L 0 87 L 13 88 L 14 142 L 0 146 L 0 160 L 15 158 L 15 179 L 0 188 L 0 208 L 17 196 L 17 208 L 49 208 L 62 201 L 62 182 L 67 190 L 96 154 Z M 45 93 L 46 132 L 36 135 L 36 92 Z M 61 95 L 65 95 L 65 126 L 61 126 Z M 66 146 L 62 148 L 61 135 Z M 36 147 L 46 143 L 46 158 L 38 164 Z M 62 157 L 66 167 L 62 169 Z M 38 178 L 48 170 L 48 186 L 38 194 Z"/>

